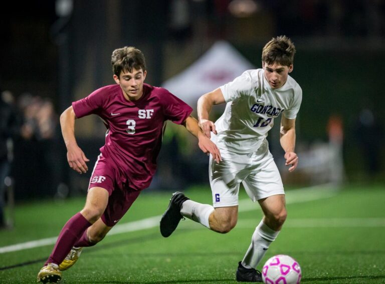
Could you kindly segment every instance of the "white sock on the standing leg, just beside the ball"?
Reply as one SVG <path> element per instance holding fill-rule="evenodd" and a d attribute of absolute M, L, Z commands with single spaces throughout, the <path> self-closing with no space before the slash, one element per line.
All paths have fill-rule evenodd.
<path fill-rule="evenodd" d="M 279 231 L 270 229 L 262 220 L 253 233 L 251 244 L 242 260 L 242 265 L 246 268 L 256 268 L 278 234 Z"/>

